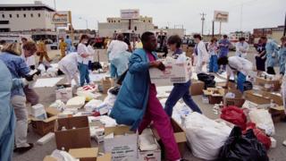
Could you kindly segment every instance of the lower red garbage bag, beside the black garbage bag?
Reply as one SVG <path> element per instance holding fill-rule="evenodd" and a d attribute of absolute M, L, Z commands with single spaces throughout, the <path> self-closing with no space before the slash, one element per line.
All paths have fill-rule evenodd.
<path fill-rule="evenodd" d="M 257 129 L 256 123 L 248 123 L 246 131 L 248 131 L 249 129 L 253 130 L 254 134 L 257 136 L 257 140 L 259 140 L 265 146 L 266 149 L 269 149 L 271 147 L 270 138 L 267 137 L 263 131 Z"/>

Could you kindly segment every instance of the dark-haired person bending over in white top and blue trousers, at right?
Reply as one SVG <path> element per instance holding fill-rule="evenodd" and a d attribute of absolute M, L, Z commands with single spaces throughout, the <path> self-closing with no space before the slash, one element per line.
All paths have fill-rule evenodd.
<path fill-rule="evenodd" d="M 249 72 L 252 71 L 252 63 L 239 56 L 223 56 L 218 59 L 217 64 L 226 65 L 227 80 L 225 86 L 228 87 L 231 76 L 237 73 L 238 89 L 240 89 L 240 92 L 243 92 L 243 83 L 246 81 Z"/>

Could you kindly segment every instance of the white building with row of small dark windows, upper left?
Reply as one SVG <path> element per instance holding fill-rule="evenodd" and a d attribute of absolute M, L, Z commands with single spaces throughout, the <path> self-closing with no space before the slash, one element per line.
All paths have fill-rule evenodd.
<path fill-rule="evenodd" d="M 35 4 L 0 4 L 0 32 L 54 31 L 51 12 L 55 9 L 39 1 Z"/>

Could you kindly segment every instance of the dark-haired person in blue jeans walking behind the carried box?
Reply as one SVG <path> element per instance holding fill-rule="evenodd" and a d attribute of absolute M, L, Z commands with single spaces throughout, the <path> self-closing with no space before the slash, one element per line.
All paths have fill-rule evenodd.
<path fill-rule="evenodd" d="M 181 38 L 178 35 L 171 36 L 168 38 L 168 46 L 170 47 L 171 51 L 173 52 L 172 57 L 175 59 L 178 58 L 179 55 L 185 55 L 182 52 L 181 49 Z M 197 104 L 194 102 L 194 100 L 191 98 L 189 95 L 189 86 L 191 82 L 190 80 L 187 81 L 186 83 L 174 83 L 173 88 L 171 91 L 170 96 L 168 97 L 164 111 L 172 117 L 172 107 L 176 105 L 176 103 L 182 99 L 190 107 L 190 109 L 194 112 L 198 112 L 199 114 L 202 114 L 201 110 L 197 106 Z"/>

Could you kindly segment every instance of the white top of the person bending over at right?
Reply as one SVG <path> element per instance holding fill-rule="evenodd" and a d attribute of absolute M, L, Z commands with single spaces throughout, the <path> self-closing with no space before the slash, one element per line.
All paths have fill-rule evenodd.
<path fill-rule="evenodd" d="M 234 71 L 238 71 L 243 73 L 245 76 L 248 75 L 250 71 L 252 71 L 253 64 L 249 62 L 247 59 L 244 59 L 239 56 L 231 56 L 229 57 L 229 64 L 226 65 L 226 73 L 227 75 L 233 75 Z"/>

